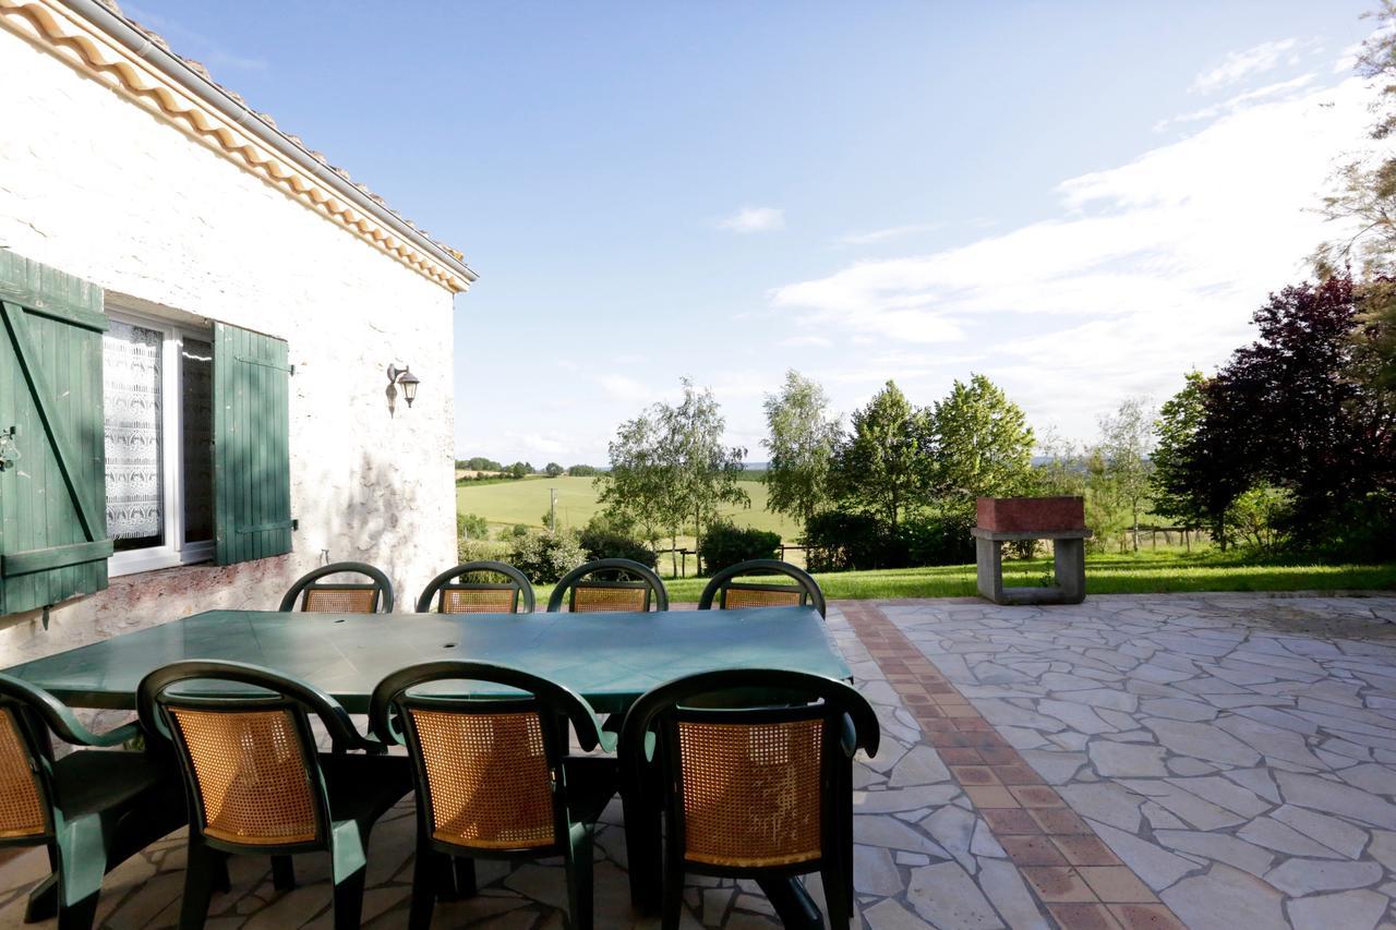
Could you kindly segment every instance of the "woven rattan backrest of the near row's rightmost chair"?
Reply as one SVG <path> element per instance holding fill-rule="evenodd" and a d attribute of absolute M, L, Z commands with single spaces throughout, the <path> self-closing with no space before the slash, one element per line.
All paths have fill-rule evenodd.
<path fill-rule="evenodd" d="M 819 857 L 821 718 L 676 726 L 685 859 L 754 869 Z"/>

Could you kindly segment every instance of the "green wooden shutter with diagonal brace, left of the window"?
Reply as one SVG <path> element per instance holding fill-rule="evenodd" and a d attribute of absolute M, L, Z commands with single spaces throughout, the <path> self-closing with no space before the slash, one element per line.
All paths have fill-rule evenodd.
<path fill-rule="evenodd" d="M 105 330 L 101 288 L 0 250 L 0 614 L 106 588 Z"/>

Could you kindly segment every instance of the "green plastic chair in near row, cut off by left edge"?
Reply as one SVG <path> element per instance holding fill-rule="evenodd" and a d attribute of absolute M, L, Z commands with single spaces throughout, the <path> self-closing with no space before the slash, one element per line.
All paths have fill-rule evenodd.
<path fill-rule="evenodd" d="M 95 751 L 140 735 L 96 735 L 52 694 L 0 674 L 0 848 L 46 846 L 53 874 L 29 894 L 25 923 L 88 930 L 102 877 L 184 822 L 179 775 L 141 751 Z M 56 760 L 52 737 L 82 748 Z"/>

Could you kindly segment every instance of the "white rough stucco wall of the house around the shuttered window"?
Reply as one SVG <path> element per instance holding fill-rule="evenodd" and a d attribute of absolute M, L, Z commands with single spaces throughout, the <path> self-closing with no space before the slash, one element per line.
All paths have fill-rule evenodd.
<path fill-rule="evenodd" d="M 114 578 L 0 619 L 0 667 L 212 607 L 275 609 L 329 561 L 410 603 L 455 561 L 452 296 L 279 189 L 0 29 L 0 247 L 290 346 L 295 552 Z M 422 378 L 389 418 L 385 367 Z"/>

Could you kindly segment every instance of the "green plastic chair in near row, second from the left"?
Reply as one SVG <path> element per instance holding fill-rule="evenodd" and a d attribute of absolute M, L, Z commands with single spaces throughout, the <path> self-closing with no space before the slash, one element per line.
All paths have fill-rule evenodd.
<path fill-rule="evenodd" d="M 181 929 L 204 926 L 229 855 L 272 856 L 276 885 L 288 888 L 290 857 L 307 852 L 331 856 L 336 930 L 359 926 L 369 831 L 412 790 L 408 760 L 360 736 L 314 686 L 240 662 L 156 669 L 141 680 L 137 709 L 148 733 L 173 743 L 183 774 Z M 328 730 L 332 753 L 317 751 L 310 715 Z"/>

